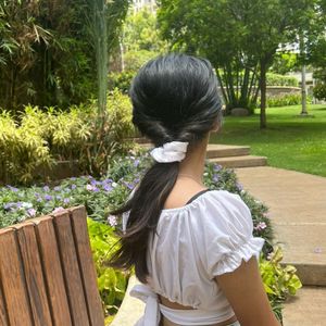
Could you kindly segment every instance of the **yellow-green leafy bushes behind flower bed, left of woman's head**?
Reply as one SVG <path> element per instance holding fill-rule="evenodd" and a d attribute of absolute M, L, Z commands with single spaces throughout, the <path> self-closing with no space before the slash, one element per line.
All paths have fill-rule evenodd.
<path fill-rule="evenodd" d="M 63 160 L 77 161 L 85 173 L 100 175 L 105 172 L 110 158 L 134 147 L 130 141 L 125 141 L 135 134 L 131 104 L 117 89 L 110 92 L 102 129 L 97 124 L 95 104 L 72 106 L 65 112 L 27 105 L 20 122 L 2 112 L 0 180 L 28 184 L 34 178 L 41 178 L 42 167 L 51 167 Z"/>

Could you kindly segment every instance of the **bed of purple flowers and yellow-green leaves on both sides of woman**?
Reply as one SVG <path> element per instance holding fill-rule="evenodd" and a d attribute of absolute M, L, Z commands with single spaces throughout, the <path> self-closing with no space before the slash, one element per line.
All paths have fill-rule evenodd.
<path fill-rule="evenodd" d="M 98 273 L 98 287 L 108 322 L 116 313 L 125 294 L 129 273 L 105 266 L 105 261 L 116 242 L 114 230 L 121 220 L 110 211 L 118 208 L 139 183 L 151 164 L 148 153 L 130 153 L 111 161 L 108 174 L 73 177 L 55 185 L 0 188 L 0 227 L 26 218 L 58 212 L 68 206 L 84 204 L 88 212 L 88 229 Z M 280 318 L 281 302 L 294 294 L 301 284 L 293 267 L 281 267 L 279 251 L 273 251 L 273 229 L 267 208 L 242 189 L 231 170 L 208 163 L 204 183 L 210 189 L 224 189 L 239 195 L 251 210 L 255 236 L 266 242 L 261 258 L 261 273 L 273 309 Z"/>

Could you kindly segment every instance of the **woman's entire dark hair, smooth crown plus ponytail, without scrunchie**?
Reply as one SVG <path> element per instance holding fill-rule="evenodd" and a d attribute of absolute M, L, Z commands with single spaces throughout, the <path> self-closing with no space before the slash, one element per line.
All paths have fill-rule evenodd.
<path fill-rule="evenodd" d="M 201 140 L 220 120 L 221 99 L 210 62 L 186 54 L 167 54 L 140 68 L 130 88 L 133 123 L 155 147 L 171 141 Z M 147 248 L 155 231 L 165 200 L 178 175 L 179 163 L 155 162 L 123 208 L 129 212 L 126 234 L 109 264 L 135 265 L 136 276 L 147 283 Z"/>

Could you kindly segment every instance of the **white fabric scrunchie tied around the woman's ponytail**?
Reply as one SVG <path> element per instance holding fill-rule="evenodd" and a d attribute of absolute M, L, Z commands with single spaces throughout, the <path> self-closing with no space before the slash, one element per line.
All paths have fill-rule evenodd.
<path fill-rule="evenodd" d="M 186 158 L 189 142 L 172 141 L 154 148 L 150 154 L 159 163 L 180 162 Z"/>

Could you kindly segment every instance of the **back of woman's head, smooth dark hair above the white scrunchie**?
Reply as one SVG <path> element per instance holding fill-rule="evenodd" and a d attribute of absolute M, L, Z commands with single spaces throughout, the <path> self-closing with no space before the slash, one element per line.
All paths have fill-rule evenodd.
<path fill-rule="evenodd" d="M 155 146 L 195 142 L 220 121 L 217 82 L 208 60 L 167 54 L 149 61 L 135 77 L 133 122 Z"/>

